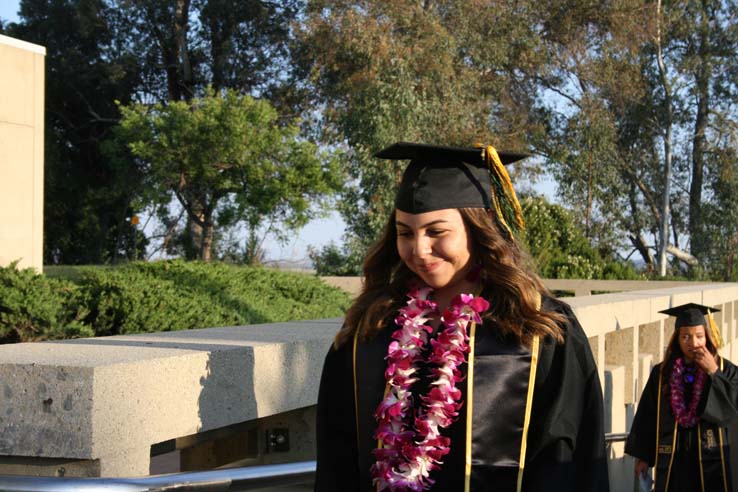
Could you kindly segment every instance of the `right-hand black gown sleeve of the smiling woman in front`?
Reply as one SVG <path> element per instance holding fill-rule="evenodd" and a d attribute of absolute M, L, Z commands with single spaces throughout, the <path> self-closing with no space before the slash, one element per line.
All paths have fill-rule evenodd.
<path fill-rule="evenodd" d="M 523 490 L 606 492 L 604 405 L 587 336 L 568 305 L 544 307 L 567 318 L 565 341 L 542 345 Z"/>

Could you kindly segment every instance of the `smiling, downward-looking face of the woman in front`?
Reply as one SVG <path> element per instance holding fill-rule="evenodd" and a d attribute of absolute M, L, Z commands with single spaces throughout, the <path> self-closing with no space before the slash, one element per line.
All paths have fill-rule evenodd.
<path fill-rule="evenodd" d="M 459 284 L 471 267 L 469 233 L 456 209 L 395 213 L 397 251 L 405 265 L 434 289 Z"/>

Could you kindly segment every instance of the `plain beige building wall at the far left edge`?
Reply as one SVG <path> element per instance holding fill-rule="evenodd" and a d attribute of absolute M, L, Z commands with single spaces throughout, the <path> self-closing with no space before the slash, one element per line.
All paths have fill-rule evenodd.
<path fill-rule="evenodd" d="M 42 46 L 0 35 L 0 265 L 43 268 Z"/>

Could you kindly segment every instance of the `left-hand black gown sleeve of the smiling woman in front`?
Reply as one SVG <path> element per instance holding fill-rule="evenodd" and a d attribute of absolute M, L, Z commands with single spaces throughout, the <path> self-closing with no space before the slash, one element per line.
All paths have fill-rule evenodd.
<path fill-rule="evenodd" d="M 316 419 L 315 492 L 359 490 L 352 344 L 331 347 L 323 364 Z"/>

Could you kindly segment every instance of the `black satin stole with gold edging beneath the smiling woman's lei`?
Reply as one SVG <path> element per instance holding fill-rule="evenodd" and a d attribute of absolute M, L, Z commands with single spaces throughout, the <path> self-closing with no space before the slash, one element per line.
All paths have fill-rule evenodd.
<path fill-rule="evenodd" d="M 386 362 L 384 357 L 394 329 L 383 330 L 374 339 L 355 345 L 355 399 L 361 490 L 374 490 L 370 468 L 375 462 L 372 451 L 377 441 L 372 437 L 377 422 L 374 411 L 384 397 Z M 530 350 L 517 341 L 500 337 L 487 322 L 476 328 L 473 357 L 473 413 L 471 425 L 471 490 L 514 491 L 517 486 L 523 424 L 531 370 Z M 427 368 L 421 368 L 427 374 Z M 451 451 L 440 470 L 431 478 L 433 490 L 464 490 L 466 473 L 468 364 L 460 367 L 464 380 L 457 383 L 464 406 L 459 418 L 442 434 L 451 438 Z M 416 383 L 413 393 L 425 392 L 428 379 Z M 415 397 L 417 406 L 420 399 Z"/>

